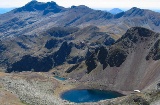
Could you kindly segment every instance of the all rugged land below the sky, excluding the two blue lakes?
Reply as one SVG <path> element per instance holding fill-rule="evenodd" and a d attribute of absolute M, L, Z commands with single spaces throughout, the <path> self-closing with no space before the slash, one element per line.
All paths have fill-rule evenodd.
<path fill-rule="evenodd" d="M 60 94 L 94 88 L 127 96 L 88 104 L 159 104 L 159 29 L 159 13 L 136 7 L 113 15 L 32 1 L 2 14 L 0 102 L 74 104 Z"/>

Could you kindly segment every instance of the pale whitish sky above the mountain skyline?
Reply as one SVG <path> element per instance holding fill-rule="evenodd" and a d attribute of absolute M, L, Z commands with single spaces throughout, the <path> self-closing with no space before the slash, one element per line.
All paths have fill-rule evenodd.
<path fill-rule="evenodd" d="M 0 0 L 0 8 L 22 7 L 31 0 Z M 160 0 L 37 0 L 39 2 L 55 1 L 63 7 L 86 5 L 94 9 L 138 7 L 142 9 L 160 10 Z"/>

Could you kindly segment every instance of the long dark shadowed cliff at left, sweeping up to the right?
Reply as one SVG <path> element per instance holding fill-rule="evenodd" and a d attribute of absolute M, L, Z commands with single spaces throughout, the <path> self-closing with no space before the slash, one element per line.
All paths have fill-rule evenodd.
<path fill-rule="evenodd" d="M 6 72 L 35 71 L 47 72 L 53 67 L 64 63 L 71 52 L 72 46 L 67 42 L 63 42 L 61 47 L 55 53 L 46 57 L 33 57 L 25 55 L 21 60 L 13 63 Z"/>

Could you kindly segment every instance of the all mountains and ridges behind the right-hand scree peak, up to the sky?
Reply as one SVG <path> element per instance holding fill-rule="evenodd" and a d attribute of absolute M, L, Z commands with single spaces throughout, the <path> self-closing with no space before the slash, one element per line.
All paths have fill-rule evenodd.
<path fill-rule="evenodd" d="M 0 15 L 0 67 L 5 66 L 8 72 L 48 71 L 64 62 L 75 64 L 86 59 L 99 43 L 113 44 L 110 35 L 118 39 L 137 26 L 160 32 L 160 13 L 134 7 L 113 15 L 84 5 L 65 8 L 55 2 L 32 1 Z M 72 53 L 75 51 L 81 53 Z M 27 64 L 30 60 L 44 68 Z M 44 64 L 48 60 L 52 63 Z M 19 68 L 22 64 L 28 66 Z"/>

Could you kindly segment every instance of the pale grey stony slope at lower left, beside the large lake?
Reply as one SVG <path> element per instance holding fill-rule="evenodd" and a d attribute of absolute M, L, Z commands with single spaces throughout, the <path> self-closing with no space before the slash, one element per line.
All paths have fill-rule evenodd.
<path fill-rule="evenodd" d="M 31 105 L 60 105 L 63 101 L 54 92 L 61 84 L 42 73 L 7 74 L 0 80 L 4 88 L 22 103 Z"/>

